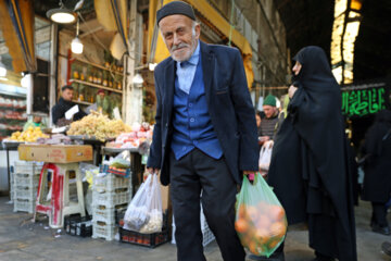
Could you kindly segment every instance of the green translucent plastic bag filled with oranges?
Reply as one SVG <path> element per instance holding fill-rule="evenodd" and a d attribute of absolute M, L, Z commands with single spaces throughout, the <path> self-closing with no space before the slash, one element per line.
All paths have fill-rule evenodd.
<path fill-rule="evenodd" d="M 282 206 L 261 174 L 256 173 L 253 184 L 244 175 L 235 219 L 242 246 L 268 258 L 283 241 L 287 226 Z"/>

